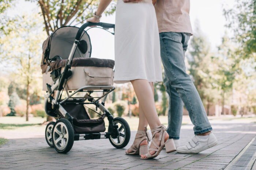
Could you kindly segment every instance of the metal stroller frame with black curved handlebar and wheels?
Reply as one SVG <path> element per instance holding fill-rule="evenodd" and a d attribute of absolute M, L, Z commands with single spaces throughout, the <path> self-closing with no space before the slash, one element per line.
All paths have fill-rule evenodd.
<path fill-rule="evenodd" d="M 110 112 L 105 108 L 105 101 L 110 92 L 115 90 L 114 86 L 83 86 L 80 87 L 78 90 L 72 92 L 69 94 L 69 90 L 65 88 L 65 83 L 67 82 L 69 76 L 71 76 L 72 72 L 70 70 L 71 68 L 71 63 L 74 58 L 74 54 L 76 51 L 76 48 L 78 46 L 80 37 L 86 27 L 89 26 L 100 26 L 103 29 L 109 29 L 113 28 L 114 29 L 114 24 L 108 24 L 108 23 L 90 23 L 87 22 L 83 24 L 75 37 L 74 44 L 71 48 L 71 52 L 69 54 L 67 63 L 65 64 L 64 70 L 62 74 L 60 75 L 59 79 L 56 80 L 56 82 L 50 86 L 47 84 L 47 94 L 44 99 L 44 107 L 45 107 L 45 112 L 49 116 L 54 116 L 57 117 L 57 122 L 50 122 L 46 126 L 46 131 L 45 131 L 45 138 L 46 142 L 48 143 L 49 146 L 53 147 L 59 152 L 59 153 L 67 153 L 71 148 L 74 143 L 74 141 L 79 141 L 79 140 L 88 140 L 88 139 L 104 139 L 108 138 L 110 140 L 110 143 L 116 147 L 116 148 L 123 148 L 125 147 L 130 139 L 130 129 L 128 123 L 123 119 L 123 118 L 115 118 L 110 114 Z M 64 87 L 63 87 L 64 85 Z M 61 91 L 65 89 L 67 96 L 64 99 L 61 99 Z M 55 91 L 55 92 L 54 92 Z M 80 92 L 86 92 L 86 94 L 83 97 L 73 97 L 75 94 L 80 93 Z M 91 94 L 93 92 L 102 92 L 102 95 L 99 97 L 93 97 Z M 102 99 L 100 102 L 99 100 Z M 88 100 L 88 101 L 86 101 Z M 109 121 L 109 127 L 108 127 L 108 132 L 102 132 L 102 133 L 84 133 L 84 134 L 77 134 L 74 133 L 74 125 L 73 125 L 73 117 L 65 110 L 65 108 L 62 106 L 63 104 L 94 104 L 99 110 L 103 112 L 108 118 Z M 120 123 L 121 126 L 118 128 L 117 123 Z M 61 130 L 64 127 L 66 133 L 68 133 L 68 141 L 65 143 L 65 147 L 61 147 L 63 143 L 57 146 L 56 143 L 54 143 L 54 128 L 55 126 L 61 126 Z M 122 129 L 123 128 L 123 129 Z M 55 128 L 56 129 L 56 128 Z M 125 133 L 121 133 L 120 131 L 124 130 Z M 47 135 L 49 133 L 49 135 Z M 57 132 L 58 133 L 58 132 Z M 62 136 L 61 136 L 62 135 Z M 60 137 L 63 138 L 65 134 L 61 132 Z M 123 141 L 121 140 L 121 137 L 123 137 Z M 50 141 L 50 138 L 52 138 L 52 141 Z M 59 139 L 59 138 L 58 138 Z M 117 141 L 117 142 L 116 142 Z"/>

